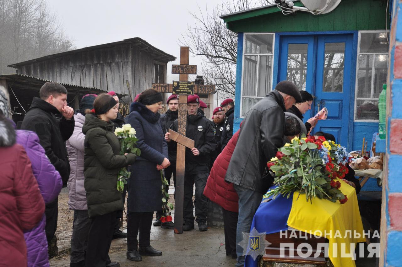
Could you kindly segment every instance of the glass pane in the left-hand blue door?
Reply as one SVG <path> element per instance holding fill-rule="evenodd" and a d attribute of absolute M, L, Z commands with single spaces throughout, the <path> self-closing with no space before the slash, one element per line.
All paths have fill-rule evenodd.
<path fill-rule="evenodd" d="M 289 43 L 287 49 L 286 80 L 296 84 L 299 90 L 306 90 L 307 49 L 306 43 Z"/>

